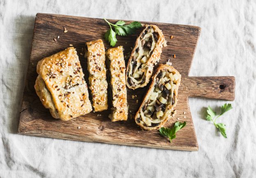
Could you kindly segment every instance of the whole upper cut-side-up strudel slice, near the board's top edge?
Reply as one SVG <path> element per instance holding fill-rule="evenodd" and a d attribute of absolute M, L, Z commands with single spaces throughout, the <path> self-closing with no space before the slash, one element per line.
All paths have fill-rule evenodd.
<path fill-rule="evenodd" d="M 156 25 L 145 25 L 137 38 L 126 65 L 126 85 L 130 89 L 145 87 L 159 62 L 165 37 Z"/>

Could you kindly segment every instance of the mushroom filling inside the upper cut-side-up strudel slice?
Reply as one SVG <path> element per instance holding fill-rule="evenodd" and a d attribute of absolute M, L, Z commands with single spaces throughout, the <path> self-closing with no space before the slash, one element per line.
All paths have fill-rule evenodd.
<path fill-rule="evenodd" d="M 158 32 L 155 32 L 151 26 L 144 29 L 138 47 L 133 53 L 132 62 L 129 65 L 128 83 L 130 86 L 143 84 L 147 72 L 147 61 L 151 57 L 156 43 L 158 41 Z"/>

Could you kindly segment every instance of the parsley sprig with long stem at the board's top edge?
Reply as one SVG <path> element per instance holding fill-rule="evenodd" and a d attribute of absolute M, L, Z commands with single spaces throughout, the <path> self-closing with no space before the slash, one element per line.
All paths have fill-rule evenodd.
<path fill-rule="evenodd" d="M 105 33 L 105 39 L 110 43 L 111 46 L 115 46 L 117 43 L 116 34 L 120 36 L 128 36 L 129 34 L 134 34 L 136 29 L 142 27 L 142 24 L 136 21 L 125 25 L 124 21 L 117 21 L 117 23 L 112 24 L 105 18 L 104 20 L 108 23 L 108 25 L 110 25 L 110 29 Z"/>

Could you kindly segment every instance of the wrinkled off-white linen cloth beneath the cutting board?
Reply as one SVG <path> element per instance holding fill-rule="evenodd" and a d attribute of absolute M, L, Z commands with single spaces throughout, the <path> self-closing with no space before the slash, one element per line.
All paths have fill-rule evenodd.
<path fill-rule="evenodd" d="M 255 9 L 255 0 L 0 0 L 0 177 L 253 177 Z M 37 12 L 201 27 L 190 76 L 235 76 L 234 109 L 219 118 L 228 139 L 203 119 L 226 102 L 204 98 L 190 98 L 198 152 L 18 135 Z"/>

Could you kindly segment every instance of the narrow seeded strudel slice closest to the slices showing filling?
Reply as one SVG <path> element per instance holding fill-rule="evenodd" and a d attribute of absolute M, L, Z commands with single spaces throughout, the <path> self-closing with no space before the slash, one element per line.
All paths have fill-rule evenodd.
<path fill-rule="evenodd" d="M 110 59 L 111 86 L 113 96 L 112 114 L 109 118 L 114 121 L 126 121 L 128 118 L 127 92 L 125 82 L 125 62 L 123 46 L 107 50 Z"/>

